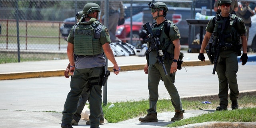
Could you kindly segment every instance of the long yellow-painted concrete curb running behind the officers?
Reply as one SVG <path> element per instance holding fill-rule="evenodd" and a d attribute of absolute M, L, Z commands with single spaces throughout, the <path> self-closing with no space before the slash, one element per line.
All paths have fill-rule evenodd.
<path fill-rule="evenodd" d="M 205 62 L 188 60 L 182 63 L 184 66 L 204 66 L 211 64 L 209 60 Z M 143 70 L 145 64 L 130 64 L 130 65 L 120 65 L 121 71 L 129 70 Z M 112 66 L 108 66 L 108 70 L 113 70 Z M 7 72 L 0 74 L 0 80 L 15 80 L 24 78 L 40 78 L 40 77 L 52 77 L 52 76 L 64 76 L 64 69 L 56 70 L 40 70 L 32 72 Z"/>

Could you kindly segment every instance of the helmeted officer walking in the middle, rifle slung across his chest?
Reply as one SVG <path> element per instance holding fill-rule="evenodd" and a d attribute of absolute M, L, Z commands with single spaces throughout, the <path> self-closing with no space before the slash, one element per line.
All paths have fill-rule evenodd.
<path fill-rule="evenodd" d="M 163 70 L 162 64 L 160 64 L 156 52 L 156 48 L 152 48 L 148 55 L 146 55 L 147 63 L 144 66 L 145 74 L 148 74 L 148 91 L 149 91 L 149 109 L 148 114 L 145 117 L 139 118 L 140 122 L 158 122 L 156 104 L 158 101 L 158 85 L 160 79 L 164 81 L 164 86 L 171 97 L 171 103 L 175 109 L 175 115 L 171 121 L 177 121 L 184 118 L 182 109 L 182 102 L 177 88 L 174 86 L 175 73 L 177 72 L 178 59 L 180 56 L 180 32 L 178 27 L 165 17 L 168 12 L 168 8 L 163 2 L 156 2 L 154 4 L 149 3 L 151 8 L 151 14 L 153 19 L 156 20 L 150 27 L 152 28 L 153 36 L 159 38 L 161 42 L 160 48 L 166 55 L 164 57 L 164 65 L 167 71 L 167 75 Z M 169 26 L 170 25 L 170 26 Z M 169 27 L 169 28 L 167 28 Z M 169 31 L 165 33 L 164 30 Z M 148 42 L 148 46 L 151 46 Z M 148 50 L 151 48 L 148 48 Z"/>

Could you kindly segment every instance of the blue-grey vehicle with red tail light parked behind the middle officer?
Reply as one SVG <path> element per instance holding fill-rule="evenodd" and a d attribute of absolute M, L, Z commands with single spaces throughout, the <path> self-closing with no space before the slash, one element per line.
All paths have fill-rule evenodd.
<path fill-rule="evenodd" d="M 172 20 L 176 26 L 178 26 L 179 31 L 180 31 L 180 44 L 181 45 L 188 45 L 188 22 L 186 19 L 192 19 L 195 15 L 196 12 L 201 13 L 201 8 L 195 8 L 195 12 L 191 10 L 191 8 L 183 8 L 183 7 L 168 7 L 168 12 L 166 18 L 168 20 Z M 143 9 L 144 15 L 143 15 L 143 23 L 149 22 L 152 24 L 155 22 L 152 19 L 151 15 L 151 10 L 149 8 L 144 8 Z M 212 14 L 210 13 L 210 9 L 206 9 L 206 15 L 208 16 L 215 16 L 216 12 L 212 10 Z M 203 33 L 205 33 L 205 27 L 203 29 Z M 195 35 L 200 33 L 200 27 L 196 26 L 195 27 Z M 196 36 L 194 37 L 196 39 Z M 192 43 L 192 42 L 190 42 Z"/>

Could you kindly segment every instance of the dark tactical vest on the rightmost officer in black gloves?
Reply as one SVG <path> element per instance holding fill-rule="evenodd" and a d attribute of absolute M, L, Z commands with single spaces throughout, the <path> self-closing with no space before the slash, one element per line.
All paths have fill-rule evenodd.
<path fill-rule="evenodd" d="M 232 45 L 237 45 L 240 42 L 240 34 L 236 30 L 236 24 L 237 24 L 237 16 L 235 14 L 230 15 L 230 19 L 228 19 L 229 24 L 226 24 L 226 28 L 222 32 L 224 35 L 231 34 L 231 36 L 227 36 L 225 38 L 224 42 L 218 42 L 218 39 L 222 31 L 222 23 L 223 20 L 221 20 L 220 16 L 216 16 L 213 19 L 214 22 L 214 31 L 213 31 L 213 42 L 216 42 L 217 44 L 213 44 L 214 46 L 218 46 L 218 43 L 228 43 Z"/>

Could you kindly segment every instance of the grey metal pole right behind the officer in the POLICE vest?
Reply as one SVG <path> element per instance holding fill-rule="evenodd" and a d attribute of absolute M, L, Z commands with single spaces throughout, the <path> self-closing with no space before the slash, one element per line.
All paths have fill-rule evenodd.
<path fill-rule="evenodd" d="M 108 28 L 108 0 L 105 0 L 104 4 L 104 12 L 105 12 L 105 18 L 104 18 L 104 26 Z M 105 56 L 106 57 L 106 56 Z M 105 70 L 108 70 L 108 58 L 106 57 L 106 66 Z M 106 82 L 105 86 L 103 87 L 103 105 L 107 105 L 107 91 L 108 91 L 108 81 Z"/>

